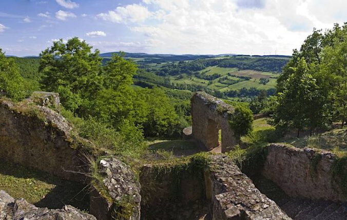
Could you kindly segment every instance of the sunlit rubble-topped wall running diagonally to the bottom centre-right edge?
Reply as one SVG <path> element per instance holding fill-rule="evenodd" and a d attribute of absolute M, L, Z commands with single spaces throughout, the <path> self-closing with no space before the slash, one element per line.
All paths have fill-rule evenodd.
<path fill-rule="evenodd" d="M 211 156 L 213 219 L 291 219 L 224 155 Z"/>

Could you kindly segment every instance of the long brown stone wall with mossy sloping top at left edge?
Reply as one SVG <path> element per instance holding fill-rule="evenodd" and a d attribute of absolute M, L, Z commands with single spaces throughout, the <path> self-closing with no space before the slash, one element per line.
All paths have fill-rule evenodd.
<path fill-rule="evenodd" d="M 84 182 L 85 175 L 69 172 L 87 170 L 72 128 L 51 109 L 31 104 L 0 102 L 0 158 Z"/>

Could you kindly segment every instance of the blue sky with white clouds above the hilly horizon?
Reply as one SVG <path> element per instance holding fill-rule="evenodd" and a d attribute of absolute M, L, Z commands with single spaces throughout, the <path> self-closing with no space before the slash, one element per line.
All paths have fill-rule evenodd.
<path fill-rule="evenodd" d="M 102 53 L 291 55 L 345 0 L 0 0 L 0 48 L 38 55 L 79 37 Z"/>

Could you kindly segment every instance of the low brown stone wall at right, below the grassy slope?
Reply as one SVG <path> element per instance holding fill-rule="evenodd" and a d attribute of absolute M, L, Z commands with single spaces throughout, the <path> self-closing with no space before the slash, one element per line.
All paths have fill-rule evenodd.
<path fill-rule="evenodd" d="M 291 196 L 347 201 L 341 184 L 333 178 L 336 156 L 328 151 L 270 144 L 263 174 Z M 342 177 L 341 177 L 342 178 Z"/>

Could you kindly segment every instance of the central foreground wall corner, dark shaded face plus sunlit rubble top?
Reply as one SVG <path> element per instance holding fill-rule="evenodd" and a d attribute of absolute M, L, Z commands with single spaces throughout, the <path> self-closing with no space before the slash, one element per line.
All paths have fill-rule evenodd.
<path fill-rule="evenodd" d="M 177 209 L 190 204 L 188 208 L 193 209 L 191 211 L 194 207 L 204 209 L 214 220 L 291 219 L 274 201 L 262 194 L 231 159 L 224 155 L 210 158 L 211 164 L 207 169 L 192 173 L 181 171 L 178 186 L 173 186 L 177 182 L 173 179 L 177 174 L 175 169 L 158 173 L 160 164 L 144 166 L 140 182 L 142 212 L 147 213 L 141 217 L 144 220 L 196 219 L 185 216 L 186 210 Z M 177 197 L 173 198 L 173 194 Z M 194 203 L 197 200 L 204 202 L 205 206 Z M 178 203 L 181 206 L 177 206 Z"/>

